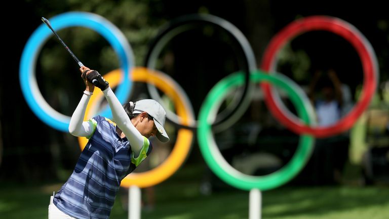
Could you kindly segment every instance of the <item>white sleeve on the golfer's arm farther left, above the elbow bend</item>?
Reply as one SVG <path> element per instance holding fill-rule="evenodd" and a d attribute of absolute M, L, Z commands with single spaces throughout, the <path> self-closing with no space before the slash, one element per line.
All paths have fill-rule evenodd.
<path fill-rule="evenodd" d="M 79 104 L 71 116 L 69 133 L 74 136 L 87 137 L 93 133 L 92 125 L 89 122 L 84 122 L 85 111 L 90 98 L 90 95 L 83 94 L 83 97 L 81 97 Z"/>

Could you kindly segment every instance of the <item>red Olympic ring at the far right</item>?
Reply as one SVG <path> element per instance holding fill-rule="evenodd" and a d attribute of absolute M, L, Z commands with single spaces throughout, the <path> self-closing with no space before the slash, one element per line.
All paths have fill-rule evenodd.
<path fill-rule="evenodd" d="M 268 83 L 261 83 L 265 94 L 265 102 L 270 112 L 286 127 L 298 134 L 312 134 L 315 137 L 328 137 L 348 130 L 357 121 L 359 116 L 368 107 L 372 99 L 378 80 L 377 58 L 372 46 L 365 36 L 353 25 L 334 17 L 311 16 L 293 21 L 270 41 L 264 52 L 261 68 L 266 72 L 274 72 L 277 64 L 277 53 L 290 40 L 298 34 L 313 30 L 326 30 L 342 36 L 357 50 L 361 58 L 364 82 L 360 100 L 356 103 L 351 112 L 331 126 L 310 127 L 301 123 L 296 118 L 288 116 L 283 111 L 280 103 L 277 103 L 271 86 Z M 270 73 L 272 74 L 272 73 Z"/>

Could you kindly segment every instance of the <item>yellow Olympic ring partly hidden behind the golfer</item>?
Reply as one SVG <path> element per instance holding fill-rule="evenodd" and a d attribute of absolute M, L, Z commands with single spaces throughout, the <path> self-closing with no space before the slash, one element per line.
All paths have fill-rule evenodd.
<path fill-rule="evenodd" d="M 151 83 L 161 91 L 163 91 L 168 97 L 170 97 L 174 106 L 177 110 L 177 115 L 182 118 L 182 123 L 188 125 L 193 118 L 189 112 L 189 109 L 184 104 L 184 100 L 181 94 L 177 93 L 174 82 L 164 74 L 152 71 L 145 67 L 135 67 L 133 68 L 132 74 L 130 74 L 133 81 Z M 108 74 L 104 75 L 104 79 L 109 82 L 111 88 L 117 86 L 120 83 L 121 74 L 120 69 L 115 69 L 110 71 Z M 93 115 L 92 112 L 97 112 L 97 100 L 101 99 L 103 96 L 102 92 L 95 92 L 87 106 L 85 118 L 87 120 Z M 154 169 L 141 172 L 141 173 L 131 173 L 127 175 L 122 180 L 122 187 L 138 186 L 139 188 L 150 187 L 159 184 L 160 182 L 169 178 L 173 173 L 175 173 L 178 168 L 185 161 L 187 155 L 189 154 L 191 142 L 193 139 L 193 132 L 188 129 L 179 129 L 177 133 L 176 143 L 169 157 L 161 163 L 158 167 Z M 81 150 L 84 149 L 87 144 L 88 139 L 85 137 L 79 137 L 79 143 Z"/>

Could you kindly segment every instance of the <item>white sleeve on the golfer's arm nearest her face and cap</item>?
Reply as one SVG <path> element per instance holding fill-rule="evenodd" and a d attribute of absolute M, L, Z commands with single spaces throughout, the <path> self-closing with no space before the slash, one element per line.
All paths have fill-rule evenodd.
<path fill-rule="evenodd" d="M 134 156 L 138 157 L 145 138 L 143 138 L 138 129 L 136 129 L 131 123 L 131 120 L 124 111 L 122 104 L 119 102 L 118 98 L 116 98 L 110 87 L 105 89 L 103 93 L 108 101 L 109 107 L 111 108 L 113 121 L 124 132 L 130 142 L 131 150 L 133 151 Z"/>

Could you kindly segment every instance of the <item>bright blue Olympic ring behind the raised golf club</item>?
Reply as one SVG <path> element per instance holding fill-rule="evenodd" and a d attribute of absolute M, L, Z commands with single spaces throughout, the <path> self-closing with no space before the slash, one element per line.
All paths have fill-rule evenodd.
<path fill-rule="evenodd" d="M 118 54 L 121 63 L 123 81 L 115 90 L 115 94 L 119 101 L 124 103 L 130 95 L 131 78 L 129 74 L 134 66 L 134 55 L 124 34 L 105 18 L 86 12 L 63 13 L 51 18 L 50 23 L 55 30 L 72 26 L 88 27 L 101 34 L 109 42 Z M 31 34 L 20 60 L 19 79 L 22 93 L 34 114 L 47 125 L 67 132 L 70 117 L 58 113 L 46 102 L 38 89 L 35 78 L 37 56 L 52 34 L 53 32 L 45 24 L 41 24 Z M 106 107 L 101 115 L 111 117 L 109 107 Z"/>

